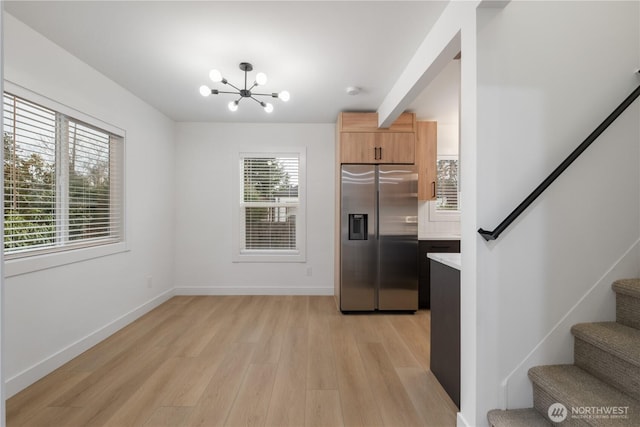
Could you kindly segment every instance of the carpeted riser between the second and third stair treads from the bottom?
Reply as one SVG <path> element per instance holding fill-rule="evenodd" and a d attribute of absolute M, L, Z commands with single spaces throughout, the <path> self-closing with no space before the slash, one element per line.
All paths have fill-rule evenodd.
<path fill-rule="evenodd" d="M 594 377 L 640 400 L 640 367 L 577 337 L 574 343 L 574 360 L 576 366 Z"/>

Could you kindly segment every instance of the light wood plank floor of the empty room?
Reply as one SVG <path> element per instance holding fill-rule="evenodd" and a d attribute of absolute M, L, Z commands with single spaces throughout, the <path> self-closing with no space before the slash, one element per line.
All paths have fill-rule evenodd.
<path fill-rule="evenodd" d="M 175 297 L 7 401 L 15 426 L 453 426 L 429 312 Z"/>

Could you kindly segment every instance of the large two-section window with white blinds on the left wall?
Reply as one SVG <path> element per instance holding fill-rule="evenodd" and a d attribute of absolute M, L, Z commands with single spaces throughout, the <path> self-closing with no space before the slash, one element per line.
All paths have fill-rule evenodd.
<path fill-rule="evenodd" d="M 123 240 L 123 139 L 4 94 L 7 259 Z"/>

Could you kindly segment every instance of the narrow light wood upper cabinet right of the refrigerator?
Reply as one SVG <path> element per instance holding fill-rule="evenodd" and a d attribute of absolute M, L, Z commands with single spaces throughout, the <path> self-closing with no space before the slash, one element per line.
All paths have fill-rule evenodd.
<path fill-rule="evenodd" d="M 436 198 L 438 123 L 417 122 L 418 200 Z"/>

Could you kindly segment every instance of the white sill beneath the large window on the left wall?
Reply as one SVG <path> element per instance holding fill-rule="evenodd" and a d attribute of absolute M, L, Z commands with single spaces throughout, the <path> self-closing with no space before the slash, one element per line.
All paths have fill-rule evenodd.
<path fill-rule="evenodd" d="M 7 260 L 4 263 L 5 277 L 20 276 L 49 268 L 60 267 L 76 262 L 101 258 L 128 251 L 126 242 L 108 245 L 92 246 L 89 248 L 73 249 L 43 255 L 26 256 L 19 259 Z"/>

